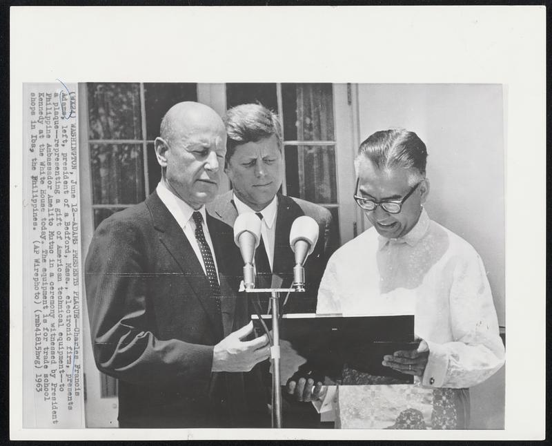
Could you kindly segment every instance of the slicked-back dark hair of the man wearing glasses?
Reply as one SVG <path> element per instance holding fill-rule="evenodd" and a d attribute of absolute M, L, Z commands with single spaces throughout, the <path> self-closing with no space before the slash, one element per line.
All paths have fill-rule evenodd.
<path fill-rule="evenodd" d="M 414 132 L 391 128 L 373 133 L 360 144 L 355 159 L 357 169 L 362 157 L 369 159 L 380 170 L 392 168 L 416 169 L 426 175 L 426 144 Z"/>

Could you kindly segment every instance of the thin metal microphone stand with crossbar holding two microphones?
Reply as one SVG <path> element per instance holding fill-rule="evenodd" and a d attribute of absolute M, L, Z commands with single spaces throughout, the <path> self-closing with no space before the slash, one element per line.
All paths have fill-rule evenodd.
<path fill-rule="evenodd" d="M 246 293 L 270 293 L 270 302 L 272 304 L 272 340 L 270 346 L 270 360 L 272 362 L 272 389 L 274 395 L 274 405 L 272 407 L 273 420 L 276 421 L 277 429 L 282 428 L 282 387 L 280 385 L 280 331 L 279 331 L 279 294 L 280 293 L 302 293 L 304 287 L 295 288 L 243 288 L 239 291 Z"/>

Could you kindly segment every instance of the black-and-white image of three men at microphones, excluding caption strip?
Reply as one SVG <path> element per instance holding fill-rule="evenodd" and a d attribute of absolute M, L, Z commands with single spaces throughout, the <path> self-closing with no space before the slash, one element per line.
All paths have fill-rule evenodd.
<path fill-rule="evenodd" d="M 201 101 L 204 90 L 210 101 Z M 270 427 L 270 389 L 255 394 L 253 410 L 234 405 L 267 381 L 253 374 L 269 372 L 272 346 L 264 333 L 254 342 L 238 339 L 252 334 L 248 319 L 257 311 L 268 313 L 270 297 L 239 293 L 249 250 L 256 288 L 273 287 L 272 275 L 282 278 L 278 288 L 291 288 L 295 265 L 304 264 L 305 292 L 290 293 L 285 305 L 285 295 L 280 296 L 284 316 L 415 316 L 413 333 L 376 339 L 421 339 L 429 353 L 418 353 L 420 346 L 404 353 L 391 348 L 389 355 L 371 358 L 400 372 L 392 377 L 371 374 L 371 365 L 357 370 L 344 363 L 334 380 L 361 387 L 352 401 L 339 400 L 346 418 L 335 420 L 333 413 L 327 423 L 504 427 L 502 86 L 88 83 L 80 92 L 88 113 L 80 117 L 79 158 L 90 160 L 90 178 L 81 176 L 81 202 L 92 203 L 81 214 L 81 227 L 90 228 L 81 236 L 92 343 L 83 349 L 93 353 L 90 364 L 85 358 L 87 395 L 99 396 L 86 401 L 87 425 L 115 426 L 118 419 L 121 427 Z M 219 113 L 212 108 L 224 103 Z M 188 125 L 201 128 L 203 119 L 209 132 L 195 135 Z M 184 128 L 175 130 L 179 126 Z M 482 190 L 486 193 L 478 195 Z M 204 232 L 214 255 L 201 251 L 205 236 L 197 235 L 197 226 L 186 235 L 186 226 L 197 224 L 194 209 L 205 210 L 200 221 L 207 223 Z M 489 225 L 476 226 L 466 209 Z M 242 214 L 253 223 L 238 220 Z M 290 231 L 302 216 L 311 217 L 307 221 L 314 222 L 316 235 L 308 227 L 295 229 L 298 237 L 314 242 L 311 255 L 296 263 L 300 254 L 290 246 Z M 261 222 L 256 233 L 250 228 L 255 220 Z M 252 246 L 232 246 L 237 231 L 255 233 L 257 249 L 255 240 Z M 219 277 L 210 279 L 209 268 Z M 221 292 L 221 275 L 233 284 L 226 292 Z M 225 311 L 233 318 L 226 319 Z M 323 327 L 312 329 L 325 336 Z M 363 335 L 359 331 L 355 337 Z M 357 343 L 339 345 L 351 349 L 339 356 L 359 361 L 353 352 Z M 282 365 L 293 368 L 285 353 Z M 318 427 L 309 423 L 317 420 L 307 409 L 314 411 L 311 400 L 326 390 L 324 369 L 336 366 L 335 358 L 324 356 L 335 357 L 337 351 L 326 346 L 325 354 L 316 353 L 323 356 L 316 358 L 322 370 L 305 363 L 295 371 L 294 384 L 282 390 L 297 398 L 284 399 L 294 414 L 288 421 L 293 427 Z M 213 389 L 219 379 L 214 371 L 235 372 L 221 376 L 244 382 L 242 393 L 232 398 L 222 384 Z M 163 377 L 161 382 L 155 376 Z M 423 395 L 410 394 L 414 382 L 406 378 L 411 376 L 428 387 Z M 253 378 L 259 382 L 248 383 Z M 324 387 L 311 395 L 319 382 Z M 394 413 L 367 403 L 374 392 L 384 398 L 380 392 L 393 391 L 394 385 L 397 396 L 391 400 L 404 398 L 408 389 L 412 406 L 401 402 L 404 409 L 399 405 Z M 259 400 L 263 404 L 257 405 Z M 118 412 L 110 414 L 115 406 Z M 228 412 L 219 420 L 215 414 L 223 407 Z M 251 415 L 233 425 L 230 415 L 239 410 Z M 266 420 L 254 420 L 263 410 Z M 302 423 L 303 417 L 309 421 Z"/>

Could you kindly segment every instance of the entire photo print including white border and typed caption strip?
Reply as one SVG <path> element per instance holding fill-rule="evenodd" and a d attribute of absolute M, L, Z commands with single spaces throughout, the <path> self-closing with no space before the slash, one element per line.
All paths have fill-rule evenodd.
<path fill-rule="evenodd" d="M 137 23 L 146 12 L 175 23 L 160 8 L 88 9 L 109 24 L 124 12 Z M 239 12 L 236 23 L 246 12 L 267 17 L 266 8 L 169 9 L 188 24 L 218 23 L 221 9 Z M 32 438 L 81 429 L 75 439 L 544 435 L 544 400 L 534 399 L 544 359 L 525 389 L 513 381 L 526 369 L 520 349 L 533 356 L 544 347 L 526 346 L 531 330 L 544 330 L 544 264 L 532 251 L 544 213 L 533 233 L 519 222 L 535 206 L 527 194 L 544 193 L 544 171 L 527 170 L 544 159 L 544 108 L 532 110 L 535 130 L 518 122 L 520 100 L 540 100 L 544 59 L 526 55 L 542 64 L 542 85 L 524 84 L 523 96 L 519 79 L 475 68 L 436 74 L 433 56 L 422 72 L 422 58 L 402 48 L 413 43 L 391 39 L 371 54 L 378 43 L 360 45 L 364 30 L 332 40 L 322 26 L 344 12 L 369 23 L 385 17 L 397 29 L 422 17 L 435 25 L 437 14 L 477 35 L 468 17 L 488 26 L 489 8 L 462 9 L 457 21 L 450 7 L 268 10 L 274 19 L 297 12 L 293 23 L 320 12 L 321 23 L 311 39 L 291 30 L 282 48 L 243 29 L 226 35 L 224 48 L 172 41 L 159 54 L 140 38 L 146 46 L 123 41 L 128 53 L 103 56 L 92 39 L 90 66 L 117 57 L 135 66 L 142 55 L 150 70 L 59 70 L 12 86 L 21 113 L 11 144 L 23 148 L 19 177 L 12 170 L 23 203 L 21 303 L 12 313 L 23 348 L 10 358 L 12 376 L 19 362 L 12 395 L 19 392 L 21 424 L 12 431 Z M 524 26 L 539 11 L 524 10 Z M 58 12 L 82 18 L 79 8 Z M 193 34 L 170 29 L 166 38 Z M 442 57 L 460 64 L 462 46 L 477 41 L 465 38 Z M 193 57 L 178 65 L 166 56 L 179 45 Z M 338 65 L 340 48 L 349 72 L 317 72 L 326 62 L 315 55 Z M 267 72 L 264 51 L 289 55 L 274 60 L 288 66 Z M 483 59 L 475 50 L 463 56 L 476 68 Z M 406 74 L 397 75 L 401 66 Z M 523 140 L 532 145 L 517 146 Z M 523 178 L 513 182 L 516 168 Z M 531 182 L 537 188 L 523 186 Z M 512 260 L 538 264 L 522 275 Z M 527 327 L 529 309 L 537 313 Z M 531 434 L 513 422 L 526 410 L 536 412 Z"/>

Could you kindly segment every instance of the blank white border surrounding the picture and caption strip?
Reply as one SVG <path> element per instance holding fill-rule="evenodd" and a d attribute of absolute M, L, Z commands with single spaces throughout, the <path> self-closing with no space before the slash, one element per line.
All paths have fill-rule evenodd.
<path fill-rule="evenodd" d="M 544 6 L 12 7 L 10 438 L 543 439 L 545 22 Z M 58 78 L 75 83 L 503 84 L 508 330 L 505 429 L 23 429 L 23 277 L 16 267 L 23 264 L 22 157 L 17 156 L 23 146 L 22 84 Z M 530 362 L 526 358 L 531 358 Z"/>

